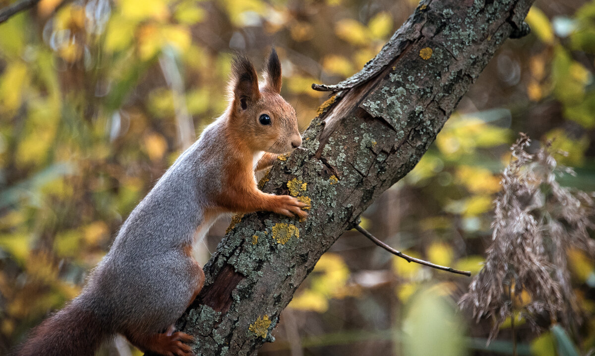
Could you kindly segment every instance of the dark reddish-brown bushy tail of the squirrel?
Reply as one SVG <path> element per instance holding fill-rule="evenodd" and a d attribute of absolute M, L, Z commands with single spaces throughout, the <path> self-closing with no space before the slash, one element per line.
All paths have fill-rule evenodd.
<path fill-rule="evenodd" d="M 35 327 L 15 356 L 93 356 L 109 334 L 92 311 L 71 303 Z"/>

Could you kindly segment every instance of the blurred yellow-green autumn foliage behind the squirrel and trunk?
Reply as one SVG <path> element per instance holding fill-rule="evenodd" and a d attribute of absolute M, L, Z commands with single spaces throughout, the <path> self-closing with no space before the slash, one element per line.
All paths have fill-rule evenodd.
<path fill-rule="evenodd" d="M 0 7 L 10 1 L 0 0 Z M 42 0 L 0 24 L 0 353 L 75 297 L 134 206 L 226 107 L 234 51 L 280 54 L 307 127 L 333 84 L 360 70 L 418 3 Z M 537 1 L 414 171 L 362 226 L 394 248 L 479 272 L 493 200 L 518 132 L 555 138 L 562 185 L 595 191 L 595 1 Z M 205 263 L 228 220 L 196 251 Z M 566 341 L 595 348 L 595 263 L 568 251 L 583 312 Z M 456 302 L 470 278 L 408 264 L 349 231 L 281 314 L 262 355 L 565 354 L 558 329 L 491 320 Z M 516 299 L 517 308 L 530 297 Z M 512 327 L 513 326 L 513 327 Z M 560 339 L 562 338 L 562 339 Z M 513 339 L 516 345 L 513 346 Z M 122 342 L 105 354 L 140 354 Z"/>

